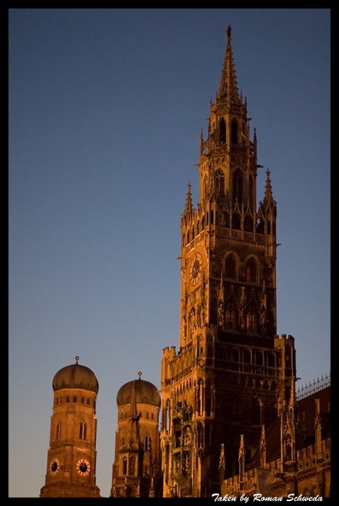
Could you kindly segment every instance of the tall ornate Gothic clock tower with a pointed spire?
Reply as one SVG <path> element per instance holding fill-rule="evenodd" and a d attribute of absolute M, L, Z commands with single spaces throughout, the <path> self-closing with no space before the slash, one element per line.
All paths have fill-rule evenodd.
<path fill-rule="evenodd" d="M 270 173 L 257 207 L 257 136 L 238 93 L 228 26 L 221 83 L 201 133 L 199 203 L 181 219 L 179 351 L 162 352 L 165 497 L 209 497 L 238 472 L 289 403 L 294 338 L 277 333 L 277 206 Z M 221 446 L 223 445 L 223 446 Z"/>

